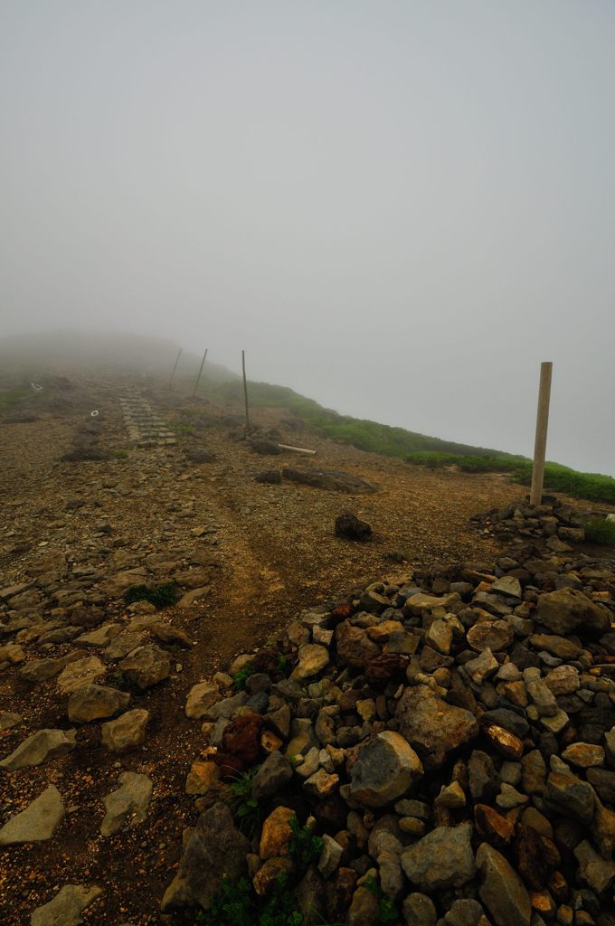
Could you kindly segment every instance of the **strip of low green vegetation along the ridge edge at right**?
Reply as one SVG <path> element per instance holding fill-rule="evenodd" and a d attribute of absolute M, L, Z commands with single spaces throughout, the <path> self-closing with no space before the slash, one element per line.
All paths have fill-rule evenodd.
<path fill-rule="evenodd" d="M 405 428 L 379 424 L 377 421 L 338 415 L 331 408 L 323 408 L 318 402 L 286 386 L 250 382 L 248 393 L 253 407 L 287 408 L 307 428 L 340 444 L 351 444 L 359 450 L 381 454 L 383 457 L 398 457 L 408 463 L 432 469 L 455 465 L 469 473 L 506 472 L 521 485 L 529 485 L 532 481 L 532 460 L 527 457 L 501 453 L 487 447 L 443 441 Z M 215 387 L 215 393 L 212 394 L 243 402 L 241 382 L 222 383 Z M 615 505 L 615 479 L 599 473 L 578 472 L 559 463 L 546 464 L 545 490 Z"/>

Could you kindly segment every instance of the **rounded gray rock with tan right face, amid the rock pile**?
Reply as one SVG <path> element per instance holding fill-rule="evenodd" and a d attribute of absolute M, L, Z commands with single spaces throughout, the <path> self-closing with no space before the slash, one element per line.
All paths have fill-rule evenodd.
<path fill-rule="evenodd" d="M 399 733 L 378 733 L 358 754 L 350 794 L 367 807 L 383 807 L 404 795 L 422 775 L 420 758 Z"/>

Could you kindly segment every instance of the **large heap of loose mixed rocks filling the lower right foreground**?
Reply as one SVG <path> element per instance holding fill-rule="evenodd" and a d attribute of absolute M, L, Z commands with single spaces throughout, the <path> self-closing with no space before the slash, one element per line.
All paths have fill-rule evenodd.
<path fill-rule="evenodd" d="M 196 685 L 163 912 L 226 922 L 226 874 L 256 908 L 283 883 L 306 926 L 612 926 L 615 563 L 561 554 L 370 584 Z"/>

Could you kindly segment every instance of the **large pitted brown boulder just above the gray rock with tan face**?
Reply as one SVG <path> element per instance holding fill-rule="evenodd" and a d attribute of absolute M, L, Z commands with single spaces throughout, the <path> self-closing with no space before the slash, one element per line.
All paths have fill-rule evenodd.
<path fill-rule="evenodd" d="M 447 704 L 427 685 L 407 688 L 396 710 L 399 732 L 418 753 L 425 771 L 440 768 L 459 746 L 478 736 L 476 718 Z"/>

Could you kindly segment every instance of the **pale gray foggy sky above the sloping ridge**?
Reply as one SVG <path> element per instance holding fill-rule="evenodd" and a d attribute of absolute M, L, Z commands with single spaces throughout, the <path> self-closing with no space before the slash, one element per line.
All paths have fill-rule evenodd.
<path fill-rule="evenodd" d="M 615 5 L 2 0 L 0 333 L 615 475 Z"/>

